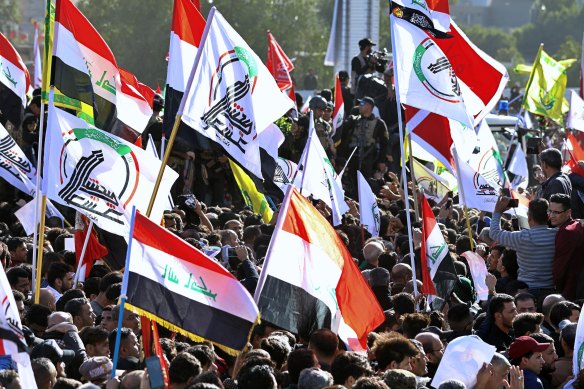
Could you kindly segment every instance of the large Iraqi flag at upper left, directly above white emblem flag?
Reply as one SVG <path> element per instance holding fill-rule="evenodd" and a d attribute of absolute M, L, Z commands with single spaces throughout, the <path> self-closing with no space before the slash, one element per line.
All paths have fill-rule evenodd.
<path fill-rule="evenodd" d="M 131 73 L 120 71 L 107 43 L 71 0 L 57 0 L 53 41 L 52 84 L 55 104 L 93 108 L 94 124 L 134 143 L 152 116 L 151 96 L 132 85 Z"/>

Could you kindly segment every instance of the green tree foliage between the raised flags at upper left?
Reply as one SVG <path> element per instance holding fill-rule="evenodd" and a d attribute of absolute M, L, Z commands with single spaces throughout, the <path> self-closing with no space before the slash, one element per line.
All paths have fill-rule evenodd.
<path fill-rule="evenodd" d="M 105 39 L 118 65 L 155 87 L 166 81 L 172 0 L 81 0 L 78 7 Z"/>

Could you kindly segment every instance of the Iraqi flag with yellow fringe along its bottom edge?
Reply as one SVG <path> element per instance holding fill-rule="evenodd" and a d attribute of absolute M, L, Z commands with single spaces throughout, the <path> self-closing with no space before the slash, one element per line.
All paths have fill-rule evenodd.
<path fill-rule="evenodd" d="M 258 308 L 223 266 L 140 213 L 128 256 L 130 310 L 231 355 L 243 350 L 259 321 Z"/>

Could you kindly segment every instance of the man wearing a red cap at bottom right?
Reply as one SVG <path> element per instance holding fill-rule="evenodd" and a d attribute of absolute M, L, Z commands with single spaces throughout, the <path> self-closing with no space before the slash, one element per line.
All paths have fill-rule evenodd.
<path fill-rule="evenodd" d="M 549 346 L 549 343 L 539 343 L 530 336 L 520 336 L 511 343 L 509 358 L 512 365 L 523 370 L 525 389 L 543 389 L 543 384 L 537 376 L 545 363 L 542 353 Z"/>

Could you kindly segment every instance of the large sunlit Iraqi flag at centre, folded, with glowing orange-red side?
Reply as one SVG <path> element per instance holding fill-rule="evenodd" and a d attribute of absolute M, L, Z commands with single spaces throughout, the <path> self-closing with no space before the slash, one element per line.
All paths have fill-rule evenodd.
<path fill-rule="evenodd" d="M 255 300 L 262 319 L 306 339 L 319 328 L 341 336 L 343 329 L 350 329 L 365 347 L 367 334 L 384 320 L 334 228 L 292 187 L 280 210 Z"/>

